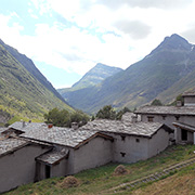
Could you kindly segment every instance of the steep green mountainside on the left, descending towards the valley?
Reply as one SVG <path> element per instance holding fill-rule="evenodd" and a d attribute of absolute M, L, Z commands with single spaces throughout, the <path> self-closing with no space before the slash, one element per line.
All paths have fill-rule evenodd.
<path fill-rule="evenodd" d="M 73 110 L 31 60 L 0 40 L 0 108 L 26 117 L 41 117 L 53 107 Z"/>

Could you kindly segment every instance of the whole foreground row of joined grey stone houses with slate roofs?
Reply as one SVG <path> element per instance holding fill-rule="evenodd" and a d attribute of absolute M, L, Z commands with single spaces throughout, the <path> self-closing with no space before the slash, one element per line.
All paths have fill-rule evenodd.
<path fill-rule="evenodd" d="M 15 122 L 0 132 L 0 193 L 110 161 L 147 159 L 169 145 L 171 129 L 126 114 L 121 121 L 94 120 L 77 129 Z"/>

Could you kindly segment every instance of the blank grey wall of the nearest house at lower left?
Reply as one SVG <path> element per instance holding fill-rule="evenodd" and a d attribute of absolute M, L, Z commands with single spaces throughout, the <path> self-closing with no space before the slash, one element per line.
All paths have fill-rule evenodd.
<path fill-rule="evenodd" d="M 35 181 L 35 158 L 47 152 L 47 147 L 27 145 L 0 157 L 0 193 Z"/>

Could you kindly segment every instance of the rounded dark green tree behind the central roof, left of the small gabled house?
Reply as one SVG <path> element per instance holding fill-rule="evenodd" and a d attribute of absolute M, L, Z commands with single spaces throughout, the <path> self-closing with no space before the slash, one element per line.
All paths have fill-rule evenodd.
<path fill-rule="evenodd" d="M 112 105 L 106 105 L 98 112 L 96 118 L 114 120 L 116 118 L 116 112 L 114 110 Z"/>

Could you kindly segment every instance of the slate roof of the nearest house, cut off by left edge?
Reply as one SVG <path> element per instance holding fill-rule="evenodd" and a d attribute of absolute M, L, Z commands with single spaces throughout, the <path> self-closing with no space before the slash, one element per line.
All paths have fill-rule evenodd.
<path fill-rule="evenodd" d="M 28 142 L 15 138 L 0 138 L 0 156 L 27 145 Z"/>

